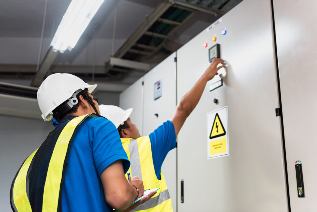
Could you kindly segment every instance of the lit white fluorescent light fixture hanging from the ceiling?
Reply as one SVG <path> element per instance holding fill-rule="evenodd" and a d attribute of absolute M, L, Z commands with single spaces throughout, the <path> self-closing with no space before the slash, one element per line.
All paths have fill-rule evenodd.
<path fill-rule="evenodd" d="M 72 50 L 104 0 L 72 0 L 53 37 L 54 51 Z"/>

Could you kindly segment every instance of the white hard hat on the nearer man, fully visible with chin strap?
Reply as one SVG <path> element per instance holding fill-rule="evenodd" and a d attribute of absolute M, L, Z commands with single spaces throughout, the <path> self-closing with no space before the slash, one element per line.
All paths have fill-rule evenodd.
<path fill-rule="evenodd" d="M 97 85 L 89 85 L 72 74 L 56 73 L 49 75 L 37 90 L 37 101 L 44 121 L 53 118 L 53 110 L 68 100 L 79 89 L 91 93 Z"/>

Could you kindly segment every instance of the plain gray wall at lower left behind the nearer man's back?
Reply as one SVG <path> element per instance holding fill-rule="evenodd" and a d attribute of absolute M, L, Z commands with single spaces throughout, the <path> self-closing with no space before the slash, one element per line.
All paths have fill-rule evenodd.
<path fill-rule="evenodd" d="M 0 115 L 1 211 L 11 211 L 10 186 L 16 171 L 53 129 L 52 122 Z"/>

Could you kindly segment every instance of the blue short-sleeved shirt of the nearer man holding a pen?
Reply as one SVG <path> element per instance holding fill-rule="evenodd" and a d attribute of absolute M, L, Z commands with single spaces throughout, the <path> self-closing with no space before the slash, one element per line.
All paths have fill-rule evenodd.
<path fill-rule="evenodd" d="M 62 188 L 63 212 L 113 211 L 105 200 L 100 174 L 117 160 L 122 160 L 126 173 L 130 162 L 116 127 L 103 117 L 87 118 L 70 146 Z"/>

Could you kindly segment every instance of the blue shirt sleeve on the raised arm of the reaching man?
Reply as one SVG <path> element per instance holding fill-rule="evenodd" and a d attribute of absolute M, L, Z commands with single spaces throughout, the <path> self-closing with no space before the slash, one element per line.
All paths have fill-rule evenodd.
<path fill-rule="evenodd" d="M 161 179 L 161 168 L 167 153 L 176 147 L 175 128 L 171 121 L 164 122 L 150 135 L 152 158 L 156 177 Z"/>

